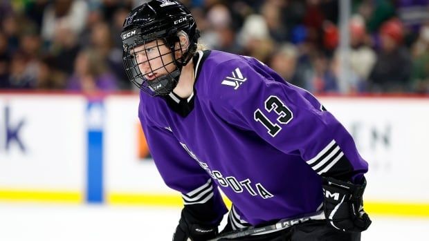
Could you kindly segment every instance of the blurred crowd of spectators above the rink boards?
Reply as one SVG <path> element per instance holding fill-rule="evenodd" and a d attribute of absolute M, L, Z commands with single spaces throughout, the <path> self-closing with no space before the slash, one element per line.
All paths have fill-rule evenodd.
<path fill-rule="evenodd" d="M 133 90 L 120 31 L 142 2 L 0 0 L 0 88 Z M 429 0 L 351 2 L 342 55 L 339 0 L 183 1 L 208 48 L 257 57 L 312 93 L 429 94 Z"/>

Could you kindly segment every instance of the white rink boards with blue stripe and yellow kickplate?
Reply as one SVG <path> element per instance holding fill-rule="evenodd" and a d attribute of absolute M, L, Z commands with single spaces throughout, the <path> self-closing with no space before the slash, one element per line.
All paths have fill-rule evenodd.
<path fill-rule="evenodd" d="M 369 162 L 365 207 L 429 218 L 429 98 L 320 97 Z M 137 95 L 0 93 L 0 200 L 180 206 L 147 151 Z"/>

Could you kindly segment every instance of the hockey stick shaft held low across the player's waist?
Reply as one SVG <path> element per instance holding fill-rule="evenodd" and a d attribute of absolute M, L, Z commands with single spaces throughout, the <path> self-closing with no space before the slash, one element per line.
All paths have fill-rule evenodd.
<path fill-rule="evenodd" d="M 271 233 L 274 231 L 280 231 L 282 229 L 289 228 L 290 226 L 293 226 L 295 224 L 307 222 L 308 220 L 323 220 L 323 219 L 325 219 L 325 213 L 323 212 L 323 210 L 320 210 L 314 213 L 307 213 L 306 215 L 300 215 L 298 217 L 284 218 L 279 222 L 276 222 L 275 224 L 271 224 L 268 226 L 260 226 L 260 227 L 249 226 L 248 228 L 225 233 L 223 235 L 220 235 L 217 238 L 214 238 L 208 241 L 217 241 L 221 239 L 234 239 L 234 238 L 241 238 L 248 235 Z"/>

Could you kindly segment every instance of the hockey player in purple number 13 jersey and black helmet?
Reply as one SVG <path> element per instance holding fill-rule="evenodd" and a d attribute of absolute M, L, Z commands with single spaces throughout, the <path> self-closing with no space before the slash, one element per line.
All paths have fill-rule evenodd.
<path fill-rule="evenodd" d="M 232 201 L 224 231 L 324 214 L 239 240 L 360 240 L 371 223 L 367 162 L 316 97 L 252 57 L 198 50 L 197 25 L 179 1 L 138 6 L 121 37 L 149 150 L 183 197 L 174 241 L 218 235 L 228 211 L 218 188 Z"/>

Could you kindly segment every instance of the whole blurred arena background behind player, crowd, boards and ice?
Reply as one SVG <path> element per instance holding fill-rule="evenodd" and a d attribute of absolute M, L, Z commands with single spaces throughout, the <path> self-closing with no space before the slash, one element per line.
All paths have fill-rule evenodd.
<path fill-rule="evenodd" d="M 181 197 L 122 70 L 140 2 L 0 1 L 1 240 L 170 240 Z M 429 233 L 428 1 L 185 3 L 209 48 L 261 59 L 352 133 L 370 170 L 363 240 Z"/>

